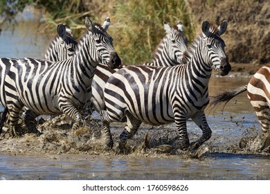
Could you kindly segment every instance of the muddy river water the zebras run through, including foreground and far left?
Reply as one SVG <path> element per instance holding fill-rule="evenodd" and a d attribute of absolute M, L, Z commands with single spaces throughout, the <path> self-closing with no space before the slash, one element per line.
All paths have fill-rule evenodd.
<path fill-rule="evenodd" d="M 9 30 L 2 31 L 0 56 L 43 58 L 45 46 L 40 45 L 44 39 L 26 32 L 15 30 L 11 35 Z M 210 95 L 245 85 L 248 80 L 244 76 L 213 76 Z M 174 124 L 155 128 L 142 125 L 134 140 L 129 141 L 137 148 L 129 155 L 101 149 L 89 152 L 82 147 L 65 151 L 67 145 L 60 142 L 61 135 L 65 138 L 64 132 L 56 143 L 47 142 L 48 134 L 1 139 L 0 179 L 270 179 L 269 153 L 239 147 L 243 137 L 260 134 L 260 125 L 246 94 L 237 96 L 224 108 L 207 109 L 206 113 L 213 136 L 199 150 L 190 153 L 179 151 L 177 142 L 169 146 L 170 151 L 162 146 L 176 135 Z M 114 124 L 111 130 L 114 140 L 122 129 L 122 124 Z M 147 132 L 150 148 L 145 149 L 142 145 Z M 188 121 L 188 133 L 191 140 L 201 135 L 192 121 Z"/>

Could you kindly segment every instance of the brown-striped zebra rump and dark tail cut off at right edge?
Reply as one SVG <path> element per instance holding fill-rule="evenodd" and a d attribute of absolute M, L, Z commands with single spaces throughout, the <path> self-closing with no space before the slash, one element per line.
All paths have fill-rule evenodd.
<path fill-rule="evenodd" d="M 270 130 L 270 64 L 258 69 L 251 77 L 249 83 L 237 89 L 224 91 L 221 94 L 212 96 L 210 106 L 228 103 L 229 100 L 238 94 L 247 91 L 247 96 L 253 106 L 260 122 L 262 133 L 266 134 Z M 226 104 L 225 104 L 226 105 Z"/>

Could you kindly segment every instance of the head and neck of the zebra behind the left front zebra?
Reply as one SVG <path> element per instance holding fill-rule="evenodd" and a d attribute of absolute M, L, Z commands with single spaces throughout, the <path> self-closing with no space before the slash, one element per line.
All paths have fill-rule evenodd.
<path fill-rule="evenodd" d="M 78 42 L 73 38 L 73 33 L 68 25 L 59 24 L 57 35 L 45 51 L 45 59 L 61 61 L 73 58 L 78 50 Z"/>

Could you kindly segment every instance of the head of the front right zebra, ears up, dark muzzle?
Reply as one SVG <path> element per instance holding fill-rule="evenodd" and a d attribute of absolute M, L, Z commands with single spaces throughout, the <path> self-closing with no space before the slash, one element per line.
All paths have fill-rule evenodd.
<path fill-rule="evenodd" d="M 204 21 L 201 30 L 203 32 L 203 39 L 201 49 L 205 49 L 203 56 L 204 62 L 210 64 L 211 67 L 219 71 L 220 76 L 228 75 L 231 71 L 231 64 L 225 55 L 225 43 L 220 37 L 225 33 L 227 22 L 223 21 L 222 24 L 215 28 L 210 26 L 209 21 Z"/>

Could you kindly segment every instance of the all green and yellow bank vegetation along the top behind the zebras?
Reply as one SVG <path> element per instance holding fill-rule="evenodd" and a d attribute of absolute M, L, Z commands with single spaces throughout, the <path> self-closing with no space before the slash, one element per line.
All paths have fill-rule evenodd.
<path fill-rule="evenodd" d="M 57 24 L 66 23 L 73 28 L 75 37 L 82 34 L 86 15 L 100 23 L 109 16 L 109 33 L 125 64 L 151 60 L 151 53 L 165 34 L 163 20 L 171 26 L 182 21 L 188 39 L 195 37 L 196 25 L 185 0 L 2 0 L 0 28 L 1 23 L 14 20 L 29 5 L 42 11 L 47 31 L 54 33 Z"/>

